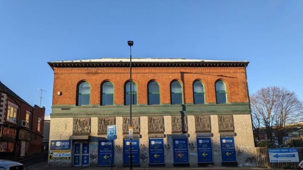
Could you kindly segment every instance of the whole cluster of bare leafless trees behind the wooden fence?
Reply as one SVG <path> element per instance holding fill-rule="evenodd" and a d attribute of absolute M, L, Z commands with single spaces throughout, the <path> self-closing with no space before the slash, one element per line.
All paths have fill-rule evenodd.
<path fill-rule="evenodd" d="M 303 107 L 295 92 L 284 87 L 261 88 L 251 95 L 251 112 L 254 134 L 258 137 L 260 126 L 265 128 L 268 139 L 273 142 L 273 133 L 278 143 L 302 120 Z"/>

